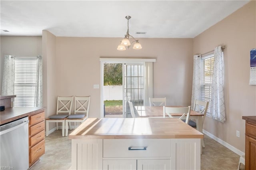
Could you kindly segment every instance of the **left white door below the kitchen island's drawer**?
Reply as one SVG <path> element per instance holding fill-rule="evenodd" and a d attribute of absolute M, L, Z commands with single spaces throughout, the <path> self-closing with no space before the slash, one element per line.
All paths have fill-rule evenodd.
<path fill-rule="evenodd" d="M 136 170 L 136 160 L 103 160 L 103 170 Z"/>

